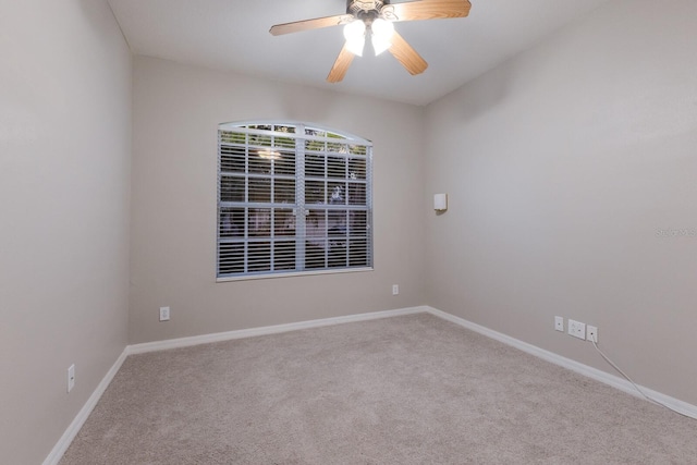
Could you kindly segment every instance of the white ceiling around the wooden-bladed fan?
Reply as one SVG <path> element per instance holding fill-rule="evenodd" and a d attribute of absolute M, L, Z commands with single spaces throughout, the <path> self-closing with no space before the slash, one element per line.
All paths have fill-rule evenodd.
<path fill-rule="evenodd" d="M 345 13 L 345 0 L 109 0 L 136 54 L 427 105 L 610 0 L 470 0 L 468 17 L 398 23 L 429 68 L 409 75 L 366 46 L 339 84 L 325 79 L 341 27 L 271 36 L 278 23 Z M 398 3 L 398 1 L 393 1 Z"/>

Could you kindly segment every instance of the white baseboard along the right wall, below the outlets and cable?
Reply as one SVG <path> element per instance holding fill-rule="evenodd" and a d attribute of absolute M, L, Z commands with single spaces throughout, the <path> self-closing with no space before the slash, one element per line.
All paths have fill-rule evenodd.
<path fill-rule="evenodd" d="M 552 364 L 562 366 L 564 368 L 567 368 L 572 371 L 575 371 L 579 375 L 586 376 L 588 378 L 592 378 L 596 381 L 600 381 L 602 383 L 606 383 L 608 386 L 611 386 L 615 389 L 619 389 L 621 391 L 624 391 L 628 394 L 632 394 L 634 396 L 640 397 L 640 399 L 645 399 L 641 393 L 639 393 L 636 388 L 634 388 L 634 386 L 632 386 L 632 383 L 627 380 L 625 380 L 624 378 L 620 378 L 617 376 L 614 375 L 610 375 L 606 371 L 589 367 L 588 365 L 584 365 L 580 364 L 578 362 L 572 360 L 571 358 L 566 358 L 563 357 L 559 354 L 555 354 L 553 352 L 549 352 L 546 351 L 543 348 L 540 348 L 536 345 L 533 344 L 528 344 L 527 342 L 523 342 L 519 341 L 515 338 L 511 338 L 510 335 L 490 330 L 489 328 L 482 327 L 480 325 L 474 323 L 472 321 L 467 321 L 463 318 L 456 317 L 454 315 L 451 314 L 447 314 L 445 311 L 441 311 L 439 309 L 432 308 L 432 307 L 425 307 L 426 311 L 428 311 L 431 315 L 435 315 L 437 317 L 440 317 L 442 319 L 445 319 L 448 321 L 454 322 L 456 325 L 460 325 L 464 328 L 467 328 L 472 331 L 478 332 L 479 334 L 486 335 L 487 338 L 491 338 L 494 339 L 499 342 L 502 342 L 506 345 L 511 345 L 515 348 L 518 348 L 523 352 L 526 352 L 530 355 L 535 355 L 538 358 L 541 358 L 543 360 L 550 362 Z M 671 397 L 669 395 L 665 395 L 663 393 L 660 393 L 658 391 L 653 391 L 649 388 L 645 388 L 643 386 L 639 386 L 639 388 L 650 397 L 655 399 L 656 401 L 664 404 L 665 406 L 669 406 L 673 409 L 675 409 L 676 412 L 680 412 L 681 414 L 695 418 L 697 419 L 697 406 L 696 405 L 692 405 L 688 404 L 687 402 L 683 402 L 678 399 L 675 397 Z"/>

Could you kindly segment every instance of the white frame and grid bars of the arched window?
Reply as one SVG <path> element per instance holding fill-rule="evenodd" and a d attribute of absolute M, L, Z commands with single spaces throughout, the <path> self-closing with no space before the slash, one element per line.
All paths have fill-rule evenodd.
<path fill-rule="evenodd" d="M 269 126 L 271 131 L 267 129 L 258 129 L 259 126 L 266 127 Z M 281 132 L 277 131 L 278 129 L 293 129 L 294 132 Z M 240 142 L 223 142 L 223 134 L 244 134 L 245 142 L 244 144 Z M 294 262 L 294 267 L 292 269 L 278 269 L 279 264 L 274 258 L 274 247 L 278 244 L 277 236 L 274 235 L 276 225 L 270 227 L 270 233 L 268 236 L 269 242 L 269 269 L 265 270 L 249 270 L 249 261 L 254 258 L 254 250 L 250 252 L 250 245 L 256 242 L 252 240 L 249 233 L 249 223 L 250 223 L 250 212 L 254 210 L 255 215 L 258 215 L 259 211 L 264 209 L 268 209 L 272 218 L 276 218 L 277 209 L 280 209 L 280 204 L 274 200 L 273 187 L 270 189 L 271 197 L 269 201 L 250 201 L 250 186 L 249 180 L 258 179 L 259 175 L 253 174 L 250 171 L 250 162 L 258 161 L 256 158 L 252 159 L 252 149 L 258 150 L 261 148 L 259 145 L 249 144 L 250 137 L 253 135 L 256 136 L 270 136 L 270 140 L 276 140 L 278 138 L 292 138 L 295 142 L 295 147 L 292 149 L 293 152 L 293 164 L 294 164 L 294 173 L 292 178 L 295 183 L 295 197 L 294 203 L 290 204 L 291 209 L 293 210 L 293 227 L 294 232 L 290 235 L 293 238 L 284 238 L 284 243 L 293 242 L 295 244 L 295 255 L 293 255 L 292 260 Z M 308 149 L 308 144 L 319 143 L 323 144 L 323 150 L 313 150 Z M 224 171 L 222 168 L 223 164 L 223 147 L 228 147 L 232 150 L 231 147 L 236 147 L 237 149 L 244 145 L 244 173 L 240 171 Z M 328 146 L 342 146 L 345 147 L 347 151 L 331 151 L 328 149 Z M 266 147 L 266 146 L 264 146 Z M 354 151 L 356 147 L 359 147 L 357 151 Z M 270 151 L 274 151 L 276 147 L 274 142 L 269 143 L 268 148 Z M 290 152 L 291 149 L 288 146 L 281 147 L 285 152 Z M 374 256 L 374 228 L 372 228 L 372 143 L 368 139 L 355 136 L 353 134 L 348 134 L 343 131 L 337 131 L 334 129 L 326 127 L 318 124 L 305 123 L 305 122 L 284 122 L 284 121 L 271 121 L 271 120 L 261 120 L 261 121 L 243 121 L 243 122 L 229 122 L 221 123 L 218 126 L 218 173 L 217 173 L 217 228 L 216 228 L 216 281 L 217 282 L 228 282 L 228 281 L 240 281 L 240 280 L 250 280 L 250 279 L 269 279 L 269 278 L 284 278 L 284 277 L 297 277 L 297 276 L 315 276 L 315 274 L 331 274 L 331 273 L 346 273 L 346 272 L 360 272 L 360 271 L 372 271 L 375 265 L 375 256 Z M 362 150 L 365 150 L 365 154 L 362 154 Z M 257 151 L 258 154 L 258 151 Z M 308 154 L 314 156 L 323 157 L 323 175 L 318 176 L 317 173 L 310 173 L 308 167 L 306 166 L 306 157 Z M 344 158 L 345 164 L 345 174 L 343 178 L 332 179 L 330 175 L 330 159 L 341 159 Z M 360 178 L 352 178 L 355 174 L 350 171 L 351 162 L 354 160 L 365 160 L 365 180 Z M 272 162 L 273 163 L 273 162 Z M 274 171 L 274 164 L 271 164 L 272 168 L 269 169 L 268 178 L 271 180 L 277 179 L 277 172 Z M 363 167 L 362 167 L 363 168 Z M 363 173 L 359 173 L 363 175 Z M 223 195 L 223 180 L 234 181 L 237 179 L 240 181 L 244 178 L 244 200 L 233 200 L 230 199 L 224 200 Z M 283 178 L 285 180 L 290 179 L 290 175 L 285 174 L 279 178 Z M 329 189 L 330 182 L 334 184 L 343 184 L 345 185 L 345 192 L 343 204 L 331 205 L 330 196 L 331 192 Z M 272 181 L 273 183 L 273 181 Z M 323 201 L 315 201 L 310 203 L 308 199 L 308 195 L 305 192 L 307 183 L 323 183 Z M 350 189 L 352 186 L 365 186 L 363 193 L 359 193 L 364 197 L 364 201 L 359 204 L 352 204 L 350 200 Z M 359 188 L 357 191 L 360 191 Z M 242 238 L 230 238 L 228 236 L 223 237 L 223 217 L 225 215 L 231 215 L 229 212 L 223 212 L 224 210 L 244 210 L 244 235 Z M 289 209 L 289 204 L 283 205 L 283 209 Z M 311 212 L 323 212 L 325 215 L 325 230 L 323 235 L 315 235 L 313 237 L 319 238 L 320 242 L 323 241 L 323 249 L 325 249 L 325 261 L 323 267 L 308 267 L 308 258 L 307 255 L 310 249 L 309 238 L 307 231 L 307 224 L 309 222 Z M 343 219 L 343 227 L 345 232 L 345 241 L 343 243 L 343 249 L 345 254 L 344 266 L 330 265 L 329 254 L 332 248 L 330 229 L 329 229 L 329 218 L 330 213 L 345 213 Z M 358 212 L 358 213 L 356 213 Z M 288 215 L 288 212 L 286 212 Z M 341 217 L 341 215 L 340 215 Z M 321 217 L 320 217 L 321 218 Z M 364 224 L 365 233 L 364 236 L 355 236 L 358 240 L 363 240 L 365 245 L 363 249 L 360 248 L 360 242 L 358 241 L 356 244 L 356 250 L 362 252 L 363 255 L 351 255 L 353 252 L 351 241 L 355 238 L 353 234 L 353 227 L 350 224 L 354 223 L 354 218 L 358 218 L 355 220 L 358 224 Z M 274 219 L 271 220 L 271 224 L 274 223 Z M 362 231 L 362 230 L 357 230 Z M 266 236 L 261 236 L 260 241 L 264 241 Z M 344 236 L 341 236 L 344 237 Z M 221 268 L 223 267 L 223 248 L 224 244 L 228 244 L 232 247 L 232 244 L 242 245 L 244 247 L 244 253 L 242 254 L 244 257 L 243 271 L 241 272 L 221 272 Z M 320 245 L 320 247 L 322 247 Z M 341 247 L 341 246 L 340 246 Z M 252 254 L 252 255 L 250 255 Z M 236 256 L 240 254 L 237 253 Z M 252 256 L 252 258 L 250 258 Z M 317 256 L 317 254 L 315 254 Z M 310 258 L 315 257 L 311 256 Z M 363 260 L 358 265 L 351 265 L 352 259 L 356 258 L 358 260 Z M 340 257 L 341 259 L 341 257 Z M 281 262 L 282 265 L 282 262 Z M 228 265 L 229 266 L 229 265 Z M 229 266 L 230 267 L 230 266 Z M 230 268 L 228 268 L 230 269 Z"/>

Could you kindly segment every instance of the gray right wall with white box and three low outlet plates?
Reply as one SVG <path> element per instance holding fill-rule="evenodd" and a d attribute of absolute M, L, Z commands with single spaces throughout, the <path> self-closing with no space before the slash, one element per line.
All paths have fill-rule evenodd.
<path fill-rule="evenodd" d="M 427 108 L 427 302 L 697 404 L 697 2 L 613 1 Z M 689 236 L 662 237 L 659 230 Z"/>

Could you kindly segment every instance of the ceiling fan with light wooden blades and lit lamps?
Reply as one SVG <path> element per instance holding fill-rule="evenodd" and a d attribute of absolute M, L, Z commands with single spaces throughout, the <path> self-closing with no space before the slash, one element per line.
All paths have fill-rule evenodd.
<path fill-rule="evenodd" d="M 390 3 L 390 0 L 346 0 L 346 14 L 277 24 L 269 30 L 274 36 L 344 25 L 346 42 L 341 49 L 327 81 L 339 83 L 346 75 L 355 56 L 362 56 L 366 37 L 376 54 L 389 50 L 409 74 L 420 74 L 428 63 L 394 30 L 400 21 L 464 17 L 469 14 L 469 0 L 413 0 Z"/>

